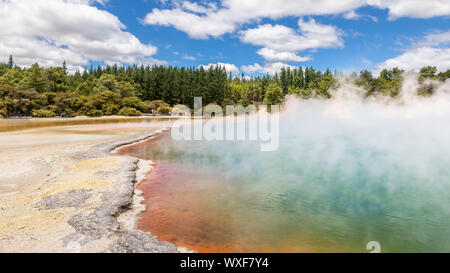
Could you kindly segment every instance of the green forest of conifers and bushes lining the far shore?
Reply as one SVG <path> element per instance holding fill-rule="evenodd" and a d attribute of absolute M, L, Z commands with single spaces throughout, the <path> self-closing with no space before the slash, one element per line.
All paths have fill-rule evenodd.
<path fill-rule="evenodd" d="M 381 71 L 374 77 L 364 70 L 350 78 L 366 90 L 366 96 L 400 93 L 403 70 Z M 331 98 L 330 88 L 339 84 L 337 72 L 314 68 L 285 68 L 273 76 L 232 76 L 224 67 L 207 69 L 174 66 L 98 66 L 69 74 L 61 67 L 23 68 L 13 56 L 0 63 L 0 117 L 75 117 L 168 115 L 177 104 L 193 107 L 194 97 L 203 105 L 274 105 L 288 94 L 303 99 Z M 433 81 L 450 78 L 450 70 L 436 67 L 420 70 L 420 95 L 433 94 Z"/>

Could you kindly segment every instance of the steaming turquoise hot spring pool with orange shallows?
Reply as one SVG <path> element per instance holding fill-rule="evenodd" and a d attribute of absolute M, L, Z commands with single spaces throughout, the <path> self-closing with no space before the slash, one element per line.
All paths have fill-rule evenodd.
<path fill-rule="evenodd" d="M 139 228 L 199 252 L 450 251 L 448 118 L 369 112 L 291 113 L 275 152 L 170 131 L 122 150 L 156 163 Z"/>

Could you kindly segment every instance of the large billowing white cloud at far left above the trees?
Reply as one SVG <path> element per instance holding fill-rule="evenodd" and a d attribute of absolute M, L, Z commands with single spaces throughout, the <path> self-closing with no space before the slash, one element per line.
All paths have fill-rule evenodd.
<path fill-rule="evenodd" d="M 29 66 L 86 65 L 90 60 L 155 63 L 157 48 L 142 44 L 119 19 L 89 0 L 0 1 L 0 56 Z M 95 1 L 101 4 L 107 1 Z"/>

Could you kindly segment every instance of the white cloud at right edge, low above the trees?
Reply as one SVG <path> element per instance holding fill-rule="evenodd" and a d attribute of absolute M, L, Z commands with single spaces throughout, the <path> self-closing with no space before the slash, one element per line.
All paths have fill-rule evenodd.
<path fill-rule="evenodd" d="M 418 71 L 430 64 L 439 71 L 450 69 L 450 31 L 435 32 L 426 35 L 423 39 L 414 42 L 411 47 L 397 57 L 378 64 L 378 70 L 399 67 L 405 70 Z"/>

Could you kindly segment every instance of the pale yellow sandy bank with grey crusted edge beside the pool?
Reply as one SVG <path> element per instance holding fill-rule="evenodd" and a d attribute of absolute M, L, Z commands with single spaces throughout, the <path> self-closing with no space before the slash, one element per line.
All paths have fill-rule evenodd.
<path fill-rule="evenodd" d="M 162 126 L 0 133 L 0 252 L 176 252 L 135 230 L 142 209 L 133 198 L 135 184 L 151 162 L 110 153 L 152 137 Z"/>

